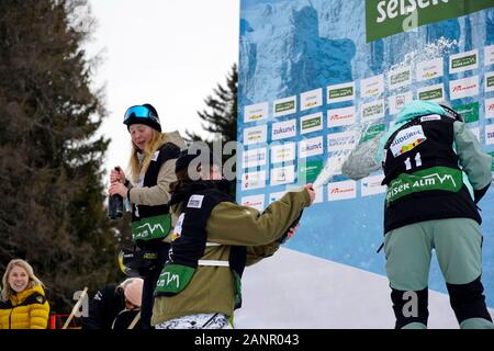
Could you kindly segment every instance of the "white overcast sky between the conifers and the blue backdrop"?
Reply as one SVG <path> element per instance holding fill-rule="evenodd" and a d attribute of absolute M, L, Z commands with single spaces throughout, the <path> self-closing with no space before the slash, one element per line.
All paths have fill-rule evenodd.
<path fill-rule="evenodd" d="M 200 133 L 198 110 L 238 60 L 239 0 L 90 0 L 98 26 L 89 55 L 102 53 L 94 77 L 105 84 L 112 138 L 106 169 L 124 169 L 130 136 L 125 110 L 151 103 L 166 132 Z"/>

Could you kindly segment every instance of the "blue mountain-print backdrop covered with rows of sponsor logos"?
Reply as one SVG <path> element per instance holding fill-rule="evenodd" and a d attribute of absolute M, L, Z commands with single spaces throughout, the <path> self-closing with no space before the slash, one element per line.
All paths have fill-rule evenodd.
<path fill-rule="evenodd" d="M 384 113 L 382 116 L 374 116 L 373 121 L 386 126 L 395 116 L 391 101 L 397 103 L 412 97 L 417 99 L 422 91 L 427 90 L 426 87 L 442 84 L 444 98 L 453 106 L 478 102 L 480 118 L 473 118 L 469 127 L 479 135 L 485 151 L 494 151 L 494 120 L 491 120 L 493 112 L 489 110 L 494 104 L 494 91 L 486 84 L 486 77 L 494 75 L 492 45 L 493 8 L 367 44 L 364 1 L 243 0 L 238 140 L 244 143 L 244 154 L 238 156 L 237 162 L 238 202 L 263 208 L 287 189 L 300 186 L 300 183 L 305 182 L 297 177 L 300 168 L 325 161 L 328 157 L 330 159 L 335 150 L 328 138 L 361 123 L 362 105 L 381 101 Z M 471 69 L 450 69 L 450 58 L 457 57 L 452 55 L 461 57 L 461 53 L 472 50 L 476 54 L 478 65 Z M 435 68 L 441 68 L 442 75 L 434 76 L 434 71 L 430 71 L 430 79 L 417 77 L 420 63 L 433 63 L 434 58 L 441 57 L 441 67 L 436 65 Z M 411 79 L 408 83 L 392 89 L 388 77 L 390 69 L 396 65 L 409 67 Z M 420 67 L 426 70 L 424 66 Z M 382 91 L 379 91 L 380 82 L 379 79 L 374 81 L 375 77 L 384 81 Z M 362 80 L 368 78 L 371 78 L 367 81 L 369 84 L 364 84 Z M 355 84 L 355 95 L 351 99 L 328 101 L 328 87 L 348 82 Z M 463 84 L 464 92 L 453 92 L 453 86 L 458 84 Z M 472 84 L 476 84 L 476 88 Z M 372 86 L 378 87 L 377 94 L 371 90 L 363 91 Z M 463 88 L 460 87 L 460 90 Z M 312 107 L 304 94 L 306 92 L 314 92 L 313 95 L 316 97 Z M 317 94 L 321 97 L 317 98 Z M 282 105 L 281 111 L 287 111 L 278 113 L 274 104 L 283 103 L 284 100 L 281 99 L 290 97 L 294 97 L 295 106 L 290 103 Z M 394 100 L 389 100 L 392 97 Z M 403 99 L 396 100 L 396 97 Z M 356 109 L 353 126 L 329 125 L 328 120 L 334 111 L 348 111 L 339 110 L 343 107 L 350 107 L 351 111 L 351 106 Z M 301 120 L 317 114 L 322 116 L 323 127 L 302 134 Z M 285 137 L 278 139 L 283 133 L 287 133 Z M 273 140 L 273 136 L 277 140 Z M 314 139 L 317 137 L 322 138 Z M 304 143 L 305 139 L 322 141 L 322 148 L 314 154 L 308 149 L 304 150 L 311 156 L 302 159 L 300 148 L 301 141 Z M 282 162 L 274 160 L 270 150 L 273 145 L 280 144 L 292 144 L 295 147 L 295 159 L 291 160 L 289 157 L 288 161 Z M 314 149 L 316 144 L 313 143 Z M 248 154 L 249 150 L 255 155 Z M 259 155 L 252 150 L 265 151 Z M 293 149 L 287 152 L 291 154 Z M 248 165 L 247 155 L 250 157 Z M 279 171 L 283 167 L 285 169 Z M 272 173 L 273 170 L 276 173 Z M 380 173 L 374 176 L 377 177 L 355 184 L 348 183 L 343 176 L 336 176 L 333 182 L 341 182 L 339 184 L 343 186 L 328 184 L 322 189 L 318 203 L 304 212 L 302 226 L 288 247 L 385 274 L 383 253 L 375 253 L 383 239 L 384 195 L 382 189 L 375 188 L 375 179 L 379 179 Z M 281 177 L 282 181 L 274 180 L 274 177 Z M 332 188 L 328 190 L 328 186 Z M 369 192 L 368 186 L 374 186 L 374 192 Z M 335 197 L 332 197 L 332 190 Z M 483 281 L 490 306 L 494 306 L 493 200 L 494 192 L 491 189 L 481 202 L 484 220 Z M 429 287 L 445 292 L 445 283 L 435 259 Z"/>

